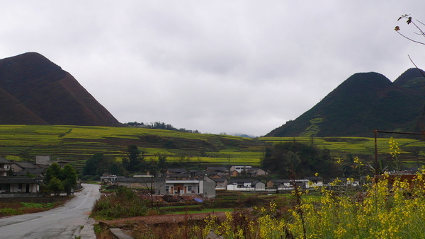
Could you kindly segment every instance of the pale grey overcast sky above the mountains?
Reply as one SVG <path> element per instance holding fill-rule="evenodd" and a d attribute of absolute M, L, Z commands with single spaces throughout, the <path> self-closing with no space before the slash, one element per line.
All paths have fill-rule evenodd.
<path fill-rule="evenodd" d="M 394 30 L 423 0 L 0 2 L 0 59 L 44 55 L 120 122 L 261 136 L 356 72 L 425 69 Z"/>

